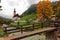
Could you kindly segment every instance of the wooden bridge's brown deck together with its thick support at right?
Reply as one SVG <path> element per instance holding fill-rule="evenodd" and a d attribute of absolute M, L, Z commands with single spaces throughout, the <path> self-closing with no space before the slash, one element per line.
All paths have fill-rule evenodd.
<path fill-rule="evenodd" d="M 20 40 L 22 38 L 29 37 L 35 34 L 40 34 L 40 33 L 45 33 L 46 40 L 57 40 L 57 29 L 58 28 L 55 28 L 55 27 L 48 27 L 48 28 L 43 28 L 39 30 L 25 32 L 23 34 L 3 37 L 3 38 L 0 38 L 0 40 Z"/>

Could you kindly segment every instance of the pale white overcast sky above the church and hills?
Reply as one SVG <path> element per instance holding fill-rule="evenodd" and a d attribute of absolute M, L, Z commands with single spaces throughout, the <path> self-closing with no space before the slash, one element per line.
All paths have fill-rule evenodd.
<path fill-rule="evenodd" d="M 17 13 L 21 15 L 31 4 L 38 3 L 39 1 L 40 0 L 2 0 L 0 5 L 2 5 L 3 11 L 0 11 L 0 16 L 4 15 L 4 17 L 8 16 L 8 18 L 12 18 L 14 8 Z"/>

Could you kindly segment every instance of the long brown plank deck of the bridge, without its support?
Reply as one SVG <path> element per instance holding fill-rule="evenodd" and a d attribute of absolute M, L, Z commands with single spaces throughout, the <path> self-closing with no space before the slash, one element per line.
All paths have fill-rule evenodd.
<path fill-rule="evenodd" d="M 29 31 L 29 32 L 26 32 L 26 33 L 23 33 L 23 34 L 18 34 L 18 35 L 14 35 L 14 36 L 8 36 L 8 37 L 0 38 L 0 40 L 11 40 L 11 39 L 17 39 L 17 38 L 21 39 L 21 38 L 31 36 L 31 35 L 34 35 L 34 34 L 38 34 L 38 33 L 41 33 L 41 32 L 53 31 L 55 29 L 56 29 L 55 27 L 48 27 L 48 28 L 43 28 L 43 29 L 40 29 L 40 30 Z"/>

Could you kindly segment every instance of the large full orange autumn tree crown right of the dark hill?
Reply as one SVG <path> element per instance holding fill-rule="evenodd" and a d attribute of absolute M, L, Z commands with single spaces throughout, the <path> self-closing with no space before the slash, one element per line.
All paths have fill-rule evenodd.
<path fill-rule="evenodd" d="M 50 1 L 46 1 L 46 0 L 40 1 L 37 4 L 37 17 L 38 18 L 41 18 L 41 17 L 51 18 L 53 13 L 54 13 L 53 6 Z"/>

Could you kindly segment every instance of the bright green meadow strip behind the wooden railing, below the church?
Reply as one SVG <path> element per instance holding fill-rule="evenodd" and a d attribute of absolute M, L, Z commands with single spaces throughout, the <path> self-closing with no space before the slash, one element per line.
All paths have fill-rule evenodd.
<path fill-rule="evenodd" d="M 36 22 L 19 22 L 19 26 L 23 26 L 24 28 L 26 27 L 32 27 L 34 24 L 34 27 L 36 27 L 37 29 L 38 28 L 43 28 L 43 27 L 46 27 L 47 24 L 43 23 L 43 27 L 41 27 L 41 24 L 39 23 L 36 23 Z M 10 24 L 11 26 L 14 26 L 14 27 L 18 27 L 18 23 L 17 22 L 14 22 L 12 24 Z"/>

